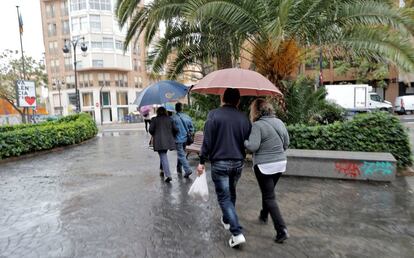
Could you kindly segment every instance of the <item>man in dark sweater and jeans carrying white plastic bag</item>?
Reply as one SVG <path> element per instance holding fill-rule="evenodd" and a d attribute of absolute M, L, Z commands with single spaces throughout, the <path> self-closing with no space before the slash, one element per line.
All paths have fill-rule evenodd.
<path fill-rule="evenodd" d="M 251 125 L 248 118 L 237 109 L 240 102 L 238 89 L 226 89 L 222 102 L 222 107 L 210 111 L 207 116 L 197 172 L 199 175 L 204 172 L 205 160 L 209 158 L 211 177 L 223 212 L 221 223 L 232 233 L 229 245 L 235 247 L 246 242 L 235 205 L 236 184 L 246 156 L 244 141 L 249 138 Z"/>

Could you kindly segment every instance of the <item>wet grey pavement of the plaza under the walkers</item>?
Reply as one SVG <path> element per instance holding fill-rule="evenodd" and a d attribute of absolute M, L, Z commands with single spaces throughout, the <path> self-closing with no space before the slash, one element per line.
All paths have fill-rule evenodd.
<path fill-rule="evenodd" d="M 414 256 L 414 194 L 403 178 L 282 177 L 277 197 L 291 238 L 280 245 L 272 225 L 257 222 L 260 191 L 246 167 L 237 210 L 247 243 L 231 249 L 211 179 L 210 200 L 192 200 L 191 180 L 160 179 L 148 141 L 142 128 L 113 127 L 79 146 L 0 163 L 0 257 Z M 174 168 L 174 152 L 169 160 Z"/>

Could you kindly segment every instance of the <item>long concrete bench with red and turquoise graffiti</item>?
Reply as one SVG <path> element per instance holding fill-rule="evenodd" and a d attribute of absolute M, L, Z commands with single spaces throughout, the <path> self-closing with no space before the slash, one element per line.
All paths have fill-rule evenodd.
<path fill-rule="evenodd" d="M 397 169 L 390 153 L 289 149 L 287 156 L 285 174 L 293 176 L 392 181 Z"/>

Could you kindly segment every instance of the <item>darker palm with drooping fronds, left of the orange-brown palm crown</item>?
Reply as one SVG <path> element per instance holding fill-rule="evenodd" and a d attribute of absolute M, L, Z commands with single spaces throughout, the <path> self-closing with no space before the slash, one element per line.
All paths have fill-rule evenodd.
<path fill-rule="evenodd" d="M 138 2 L 118 0 L 116 13 L 121 26 L 128 25 L 125 46 L 140 35 L 147 46 L 151 45 L 147 61 L 154 72 L 162 71 L 165 64 L 170 63 L 168 75 L 175 78 L 189 65 L 195 65 L 203 76 L 212 66 L 216 69 L 232 67 L 238 58 L 237 37 L 231 31 L 226 32 L 224 26 L 220 34 L 212 32 L 220 22 L 190 25 L 184 19 L 183 10 L 188 1 L 156 0 L 139 7 Z M 164 35 L 157 34 L 161 24 L 165 26 Z"/>

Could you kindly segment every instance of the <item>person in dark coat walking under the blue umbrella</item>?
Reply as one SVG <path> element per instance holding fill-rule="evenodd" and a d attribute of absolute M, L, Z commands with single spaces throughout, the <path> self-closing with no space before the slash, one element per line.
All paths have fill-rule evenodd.
<path fill-rule="evenodd" d="M 163 171 L 164 181 L 169 183 L 171 178 L 170 165 L 168 164 L 167 151 L 175 150 L 175 135 L 178 129 L 174 121 L 168 116 L 164 107 L 157 109 L 157 116 L 151 120 L 149 133 L 153 137 L 154 151 L 158 152 Z"/>

